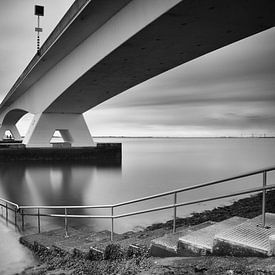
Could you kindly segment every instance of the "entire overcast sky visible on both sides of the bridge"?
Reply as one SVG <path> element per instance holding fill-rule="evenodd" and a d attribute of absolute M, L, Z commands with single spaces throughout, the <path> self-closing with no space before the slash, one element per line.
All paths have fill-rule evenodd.
<path fill-rule="evenodd" d="M 73 0 L 0 1 L 0 101 Z M 185 63 L 84 114 L 93 136 L 275 136 L 275 28 Z M 32 115 L 17 124 L 22 135 Z"/>

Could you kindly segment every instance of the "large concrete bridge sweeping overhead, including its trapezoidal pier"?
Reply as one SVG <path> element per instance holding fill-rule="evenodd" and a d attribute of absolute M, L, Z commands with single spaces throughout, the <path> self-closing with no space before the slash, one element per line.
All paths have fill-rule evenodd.
<path fill-rule="evenodd" d="M 83 113 L 154 76 L 272 28 L 273 0 L 76 0 L 0 105 L 0 137 L 95 146 Z M 226 66 L 226 64 L 225 64 Z"/>

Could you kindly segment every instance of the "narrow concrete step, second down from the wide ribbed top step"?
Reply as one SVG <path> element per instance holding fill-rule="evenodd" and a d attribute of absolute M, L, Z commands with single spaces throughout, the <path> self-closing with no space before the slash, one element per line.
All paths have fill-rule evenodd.
<path fill-rule="evenodd" d="M 177 256 L 180 237 L 213 224 L 215 224 L 215 222 L 207 221 L 195 226 L 179 227 L 175 233 L 165 234 L 163 237 L 153 239 L 150 245 L 150 255 L 154 257 L 175 257 Z"/>

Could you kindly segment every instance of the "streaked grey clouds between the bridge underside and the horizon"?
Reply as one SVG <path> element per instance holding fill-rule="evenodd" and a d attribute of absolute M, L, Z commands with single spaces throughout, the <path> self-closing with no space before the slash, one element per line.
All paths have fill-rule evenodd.
<path fill-rule="evenodd" d="M 94 129 L 108 125 L 102 133 L 115 125 L 124 133 L 275 134 L 274 44 L 272 28 L 142 83 L 86 116 Z"/>

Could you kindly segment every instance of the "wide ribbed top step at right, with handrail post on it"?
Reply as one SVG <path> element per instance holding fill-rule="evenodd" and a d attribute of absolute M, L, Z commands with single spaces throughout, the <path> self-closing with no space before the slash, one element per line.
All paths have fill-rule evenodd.
<path fill-rule="evenodd" d="M 216 234 L 213 253 L 232 256 L 271 256 L 275 247 L 275 214 L 266 213 L 266 227 L 262 216 L 247 220 Z"/>

